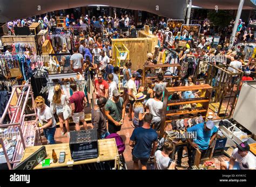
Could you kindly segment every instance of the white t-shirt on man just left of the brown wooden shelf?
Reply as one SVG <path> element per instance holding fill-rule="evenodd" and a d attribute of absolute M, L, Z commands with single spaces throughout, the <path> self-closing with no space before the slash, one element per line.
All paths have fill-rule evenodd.
<path fill-rule="evenodd" d="M 163 102 L 151 98 L 147 100 L 146 106 L 149 107 L 150 113 L 153 115 L 152 121 L 160 121 L 161 113 L 163 111 Z"/>

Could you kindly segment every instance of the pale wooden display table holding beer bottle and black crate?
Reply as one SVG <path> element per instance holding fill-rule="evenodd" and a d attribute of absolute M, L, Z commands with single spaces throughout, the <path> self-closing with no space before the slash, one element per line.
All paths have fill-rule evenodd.
<path fill-rule="evenodd" d="M 42 146 L 34 146 L 34 147 L 27 147 L 24 151 L 24 155 L 22 157 L 22 161 L 24 161 L 27 157 L 31 154 L 36 152 Z M 65 162 L 64 163 L 51 163 L 49 167 L 42 167 L 42 164 L 38 164 L 34 169 L 49 169 L 49 168 L 58 168 L 58 167 L 71 167 L 78 164 L 87 164 L 87 163 L 95 163 L 95 162 L 104 162 L 104 161 L 111 161 L 114 160 L 114 166 L 119 168 L 119 154 L 117 150 L 116 140 L 112 139 L 104 139 L 98 140 L 98 151 L 99 156 L 97 159 L 88 159 L 73 162 L 71 159 L 71 153 L 69 148 L 69 143 L 59 143 L 55 145 L 45 145 L 47 157 L 45 159 L 52 159 L 52 149 L 55 150 L 57 157 L 59 159 L 59 153 L 65 152 Z M 67 163 L 69 162 L 69 163 Z"/>

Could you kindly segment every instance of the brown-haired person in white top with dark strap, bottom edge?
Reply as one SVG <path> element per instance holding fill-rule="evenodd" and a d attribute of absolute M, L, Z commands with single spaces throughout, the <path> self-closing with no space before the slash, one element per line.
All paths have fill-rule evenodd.
<path fill-rule="evenodd" d="M 175 169 L 176 163 L 170 159 L 170 155 L 174 151 L 172 142 L 165 141 L 163 150 L 157 150 L 155 156 L 155 167 L 157 170 Z"/>

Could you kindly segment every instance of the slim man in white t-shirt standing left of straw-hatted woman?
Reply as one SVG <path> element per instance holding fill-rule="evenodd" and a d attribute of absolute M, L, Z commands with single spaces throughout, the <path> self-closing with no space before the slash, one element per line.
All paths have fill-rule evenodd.
<path fill-rule="evenodd" d="M 132 77 L 127 83 L 128 95 L 130 100 L 130 108 L 129 108 L 129 120 L 132 120 L 132 105 L 135 103 L 136 95 L 137 95 L 137 88 L 135 84 L 136 78 L 139 76 L 138 72 L 134 72 Z"/>

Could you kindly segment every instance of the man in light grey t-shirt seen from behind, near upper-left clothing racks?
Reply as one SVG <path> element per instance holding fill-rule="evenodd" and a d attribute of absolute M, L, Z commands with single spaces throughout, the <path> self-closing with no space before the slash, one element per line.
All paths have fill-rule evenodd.
<path fill-rule="evenodd" d="M 84 57 L 82 54 L 78 53 L 78 48 L 74 47 L 73 48 L 74 54 L 71 55 L 70 57 L 70 65 L 71 69 L 75 72 L 79 72 L 82 74 L 82 67 L 84 64 Z"/>

